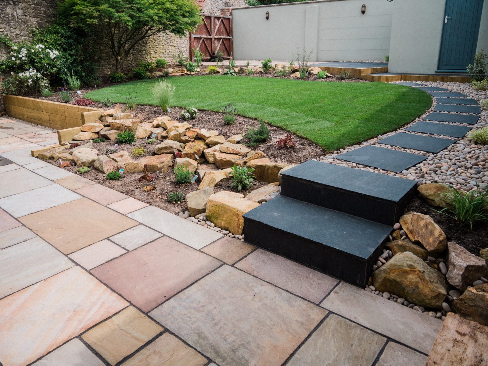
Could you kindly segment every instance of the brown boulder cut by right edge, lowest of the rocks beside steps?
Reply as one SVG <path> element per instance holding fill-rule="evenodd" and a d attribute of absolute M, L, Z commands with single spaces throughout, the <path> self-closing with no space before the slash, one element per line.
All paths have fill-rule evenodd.
<path fill-rule="evenodd" d="M 451 308 L 465 319 L 488 325 L 488 284 L 468 287 Z"/>

